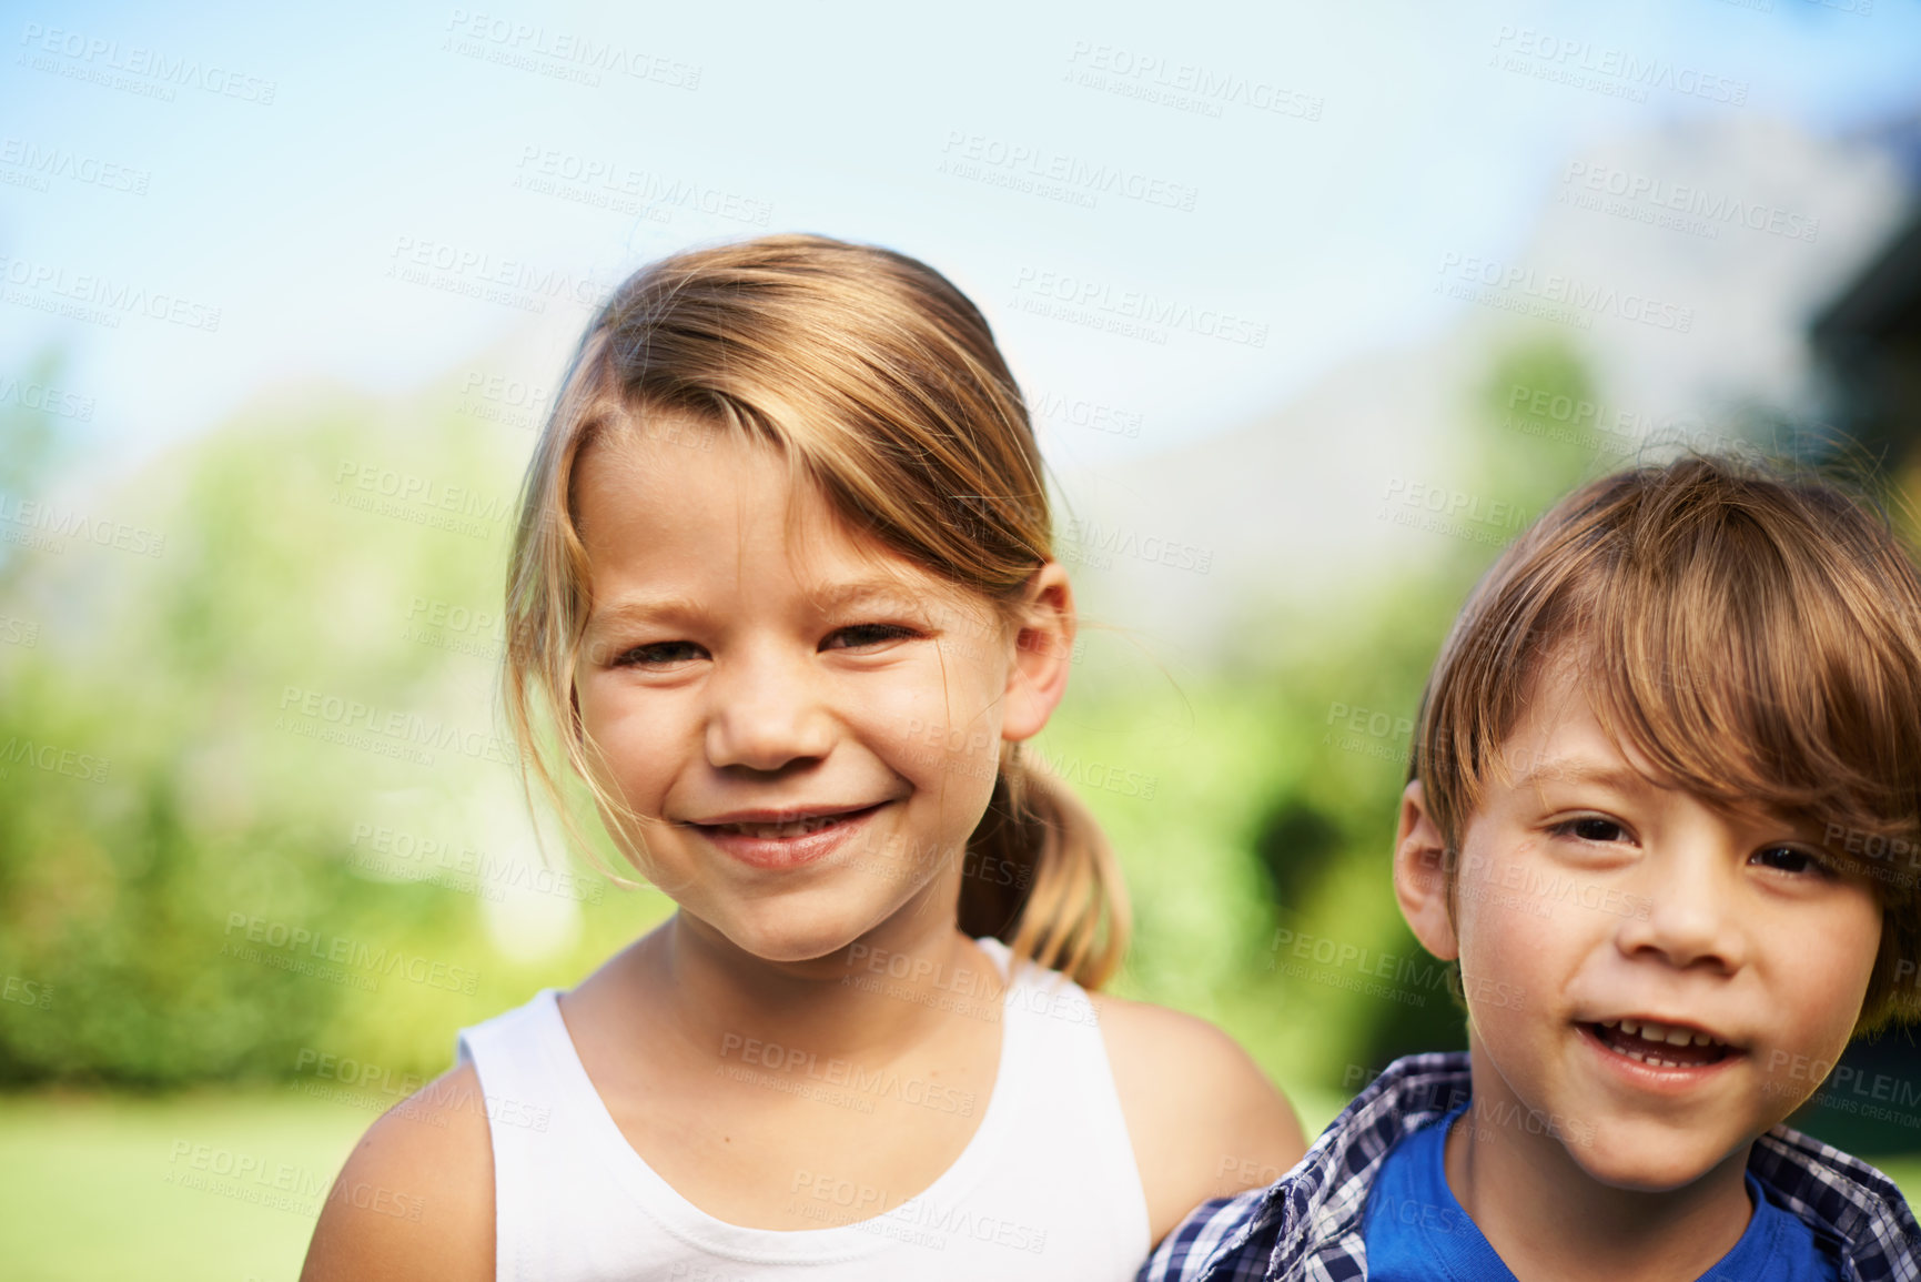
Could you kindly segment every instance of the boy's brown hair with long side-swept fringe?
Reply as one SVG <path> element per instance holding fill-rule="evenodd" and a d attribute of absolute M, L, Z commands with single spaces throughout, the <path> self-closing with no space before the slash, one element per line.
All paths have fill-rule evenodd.
<path fill-rule="evenodd" d="M 1865 498 L 1689 456 L 1543 513 L 1470 596 L 1422 696 L 1408 777 L 1450 853 L 1562 655 L 1660 782 L 1819 825 L 1883 909 L 1856 1032 L 1921 1013 L 1921 575 Z"/>

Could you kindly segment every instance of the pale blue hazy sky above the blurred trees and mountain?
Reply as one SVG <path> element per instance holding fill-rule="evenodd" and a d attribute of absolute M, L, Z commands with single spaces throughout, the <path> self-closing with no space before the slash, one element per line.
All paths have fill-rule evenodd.
<path fill-rule="evenodd" d="M 1427 288 L 1441 256 L 1510 250 L 1585 142 L 1911 113 L 1921 6 L 69 2 L 6 6 L 0 40 L 4 373 L 67 352 L 94 398 L 67 429 L 94 467 L 290 382 L 407 390 L 488 352 L 538 384 L 584 308 L 455 290 L 592 294 L 761 229 L 947 271 L 1030 392 L 1139 425 L 1089 438 L 1120 459 L 1447 325 L 1462 304 Z M 563 79 L 582 71 L 599 85 Z M 596 192 L 613 208 L 578 200 Z M 48 279 L 61 298 L 165 296 L 175 319 L 52 315 Z M 1149 344 L 1022 309 L 1130 292 L 1262 342 L 1197 323 Z M 211 309 L 217 329 L 196 327 Z"/>

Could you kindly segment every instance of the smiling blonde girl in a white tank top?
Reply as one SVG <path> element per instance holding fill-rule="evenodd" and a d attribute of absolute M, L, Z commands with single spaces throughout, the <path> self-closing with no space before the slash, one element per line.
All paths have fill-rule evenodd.
<path fill-rule="evenodd" d="M 678 913 L 463 1030 L 304 1276 L 1122 1280 L 1293 1167 L 1233 1042 L 1089 996 L 1118 873 L 1020 753 L 1074 642 L 1049 544 L 939 273 L 768 236 L 626 281 L 528 469 L 505 694 Z"/>

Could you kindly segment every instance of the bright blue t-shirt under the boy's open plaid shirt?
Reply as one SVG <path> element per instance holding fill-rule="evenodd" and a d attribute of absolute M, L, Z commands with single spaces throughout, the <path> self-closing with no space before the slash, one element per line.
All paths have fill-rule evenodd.
<path fill-rule="evenodd" d="M 1381 1163 L 1362 1211 L 1368 1282 L 1514 1282 L 1447 1186 L 1441 1151 L 1466 1107 L 1402 1136 Z M 1700 1282 L 1836 1282 L 1835 1261 L 1815 1245 L 1813 1230 L 1767 1201 L 1752 1174 L 1748 1199 L 1748 1230 Z"/>

